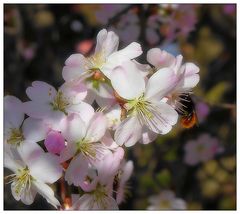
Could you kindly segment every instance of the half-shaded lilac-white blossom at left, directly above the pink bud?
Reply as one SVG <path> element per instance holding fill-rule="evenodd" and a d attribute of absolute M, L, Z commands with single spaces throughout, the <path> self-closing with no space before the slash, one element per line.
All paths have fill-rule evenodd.
<path fill-rule="evenodd" d="M 54 130 L 60 129 L 59 124 L 68 113 L 81 111 L 86 105 L 81 100 L 87 91 L 81 83 L 63 84 L 57 91 L 48 83 L 34 81 L 26 93 L 31 101 L 23 103 L 25 113 L 32 118 L 43 119 Z"/>

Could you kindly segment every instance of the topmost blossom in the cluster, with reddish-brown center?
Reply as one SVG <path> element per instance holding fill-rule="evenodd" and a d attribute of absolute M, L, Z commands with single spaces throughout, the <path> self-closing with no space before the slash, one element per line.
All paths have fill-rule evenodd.
<path fill-rule="evenodd" d="M 136 42 L 119 51 L 118 45 L 118 36 L 103 29 L 97 35 L 97 44 L 92 56 L 86 58 L 82 54 L 72 54 L 65 62 L 62 71 L 64 80 L 83 80 L 89 89 L 87 100 L 90 104 L 95 99 L 95 94 L 103 98 L 111 96 L 112 88 L 108 78 L 115 67 L 142 54 L 141 46 Z"/>

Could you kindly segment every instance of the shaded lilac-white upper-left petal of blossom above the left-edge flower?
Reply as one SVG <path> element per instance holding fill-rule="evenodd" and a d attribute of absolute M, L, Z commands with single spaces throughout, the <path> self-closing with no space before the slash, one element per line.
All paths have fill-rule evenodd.
<path fill-rule="evenodd" d="M 56 90 L 46 82 L 34 81 L 32 86 L 26 89 L 28 97 L 37 103 L 51 102 L 56 96 Z"/>

